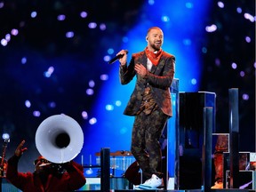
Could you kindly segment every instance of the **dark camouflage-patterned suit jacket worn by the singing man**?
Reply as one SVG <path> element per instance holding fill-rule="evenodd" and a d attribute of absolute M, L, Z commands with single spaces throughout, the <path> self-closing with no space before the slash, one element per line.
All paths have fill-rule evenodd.
<path fill-rule="evenodd" d="M 134 70 L 135 63 L 142 64 L 147 68 L 148 58 L 146 52 L 137 52 L 132 54 L 132 59 L 129 65 L 119 67 L 119 78 L 121 84 L 128 84 L 132 81 L 134 76 L 137 76 Z M 124 109 L 124 115 L 136 116 L 140 109 L 142 95 L 147 86 L 150 87 L 156 104 L 162 109 L 164 114 L 172 116 L 172 99 L 170 86 L 175 72 L 175 57 L 167 52 L 163 52 L 161 59 L 157 66 L 153 65 L 151 72 L 142 78 L 137 76 L 135 88 L 132 92 L 131 98 Z"/>

